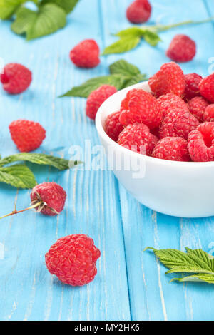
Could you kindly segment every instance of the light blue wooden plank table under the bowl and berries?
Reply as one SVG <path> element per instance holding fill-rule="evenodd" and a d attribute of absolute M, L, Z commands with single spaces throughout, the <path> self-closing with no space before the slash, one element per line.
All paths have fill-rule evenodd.
<path fill-rule="evenodd" d="M 90 5 L 88 6 L 88 4 Z M 12 120 L 39 121 L 47 130 L 37 152 L 69 158 L 71 145 L 90 139 L 99 143 L 94 123 L 86 118 L 83 98 L 56 96 L 87 78 L 108 73 L 108 65 L 124 58 L 151 76 L 168 61 L 165 50 L 175 33 L 187 33 L 198 45 L 185 73 L 208 75 L 214 57 L 214 26 L 184 26 L 161 34 L 156 48 L 142 42 L 124 55 L 103 57 L 93 70 L 73 66 L 68 53 L 84 38 L 95 38 L 103 49 L 111 35 L 130 24 L 125 10 L 131 0 L 81 0 L 68 16 L 68 25 L 54 35 L 26 42 L 1 21 L 0 56 L 5 63 L 31 68 L 34 81 L 26 93 L 1 91 L 1 155 L 17 150 L 9 135 Z M 213 0 L 151 0 L 150 23 L 163 24 L 214 15 Z M 108 171 L 58 172 L 33 167 L 38 182 L 55 181 L 66 190 L 65 210 L 44 217 L 33 210 L 1 220 L 1 320 L 214 320 L 214 287 L 209 284 L 169 284 L 170 275 L 146 246 L 184 249 L 202 247 L 212 253 L 214 218 L 188 220 L 144 207 L 128 195 Z M 0 185 L 0 214 L 29 205 L 29 190 Z M 44 254 L 59 237 L 86 233 L 101 249 L 98 274 L 85 287 L 61 284 L 46 269 Z M 4 248 L 3 248 L 4 247 Z"/>

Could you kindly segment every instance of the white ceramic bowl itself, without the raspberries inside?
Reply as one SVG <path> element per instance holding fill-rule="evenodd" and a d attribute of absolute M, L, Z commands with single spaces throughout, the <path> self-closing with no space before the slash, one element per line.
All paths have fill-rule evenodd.
<path fill-rule="evenodd" d="M 106 117 L 119 110 L 121 100 L 132 88 L 150 91 L 148 82 L 118 91 L 101 105 L 96 115 L 101 144 L 119 182 L 136 200 L 152 210 L 177 217 L 214 215 L 214 162 L 159 160 L 123 148 L 105 133 Z M 115 165 L 120 157 L 123 159 L 118 168 Z M 131 162 L 131 168 L 127 168 L 127 162 Z M 136 174 L 136 170 L 141 174 Z"/>

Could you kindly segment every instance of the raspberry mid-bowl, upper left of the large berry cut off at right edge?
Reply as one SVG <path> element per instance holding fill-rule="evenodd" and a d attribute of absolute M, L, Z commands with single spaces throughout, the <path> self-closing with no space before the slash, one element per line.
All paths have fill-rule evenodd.
<path fill-rule="evenodd" d="M 198 125 L 197 118 L 190 112 L 183 109 L 171 110 L 165 115 L 161 124 L 160 138 L 178 136 L 187 140 L 190 131 L 194 130 Z"/>

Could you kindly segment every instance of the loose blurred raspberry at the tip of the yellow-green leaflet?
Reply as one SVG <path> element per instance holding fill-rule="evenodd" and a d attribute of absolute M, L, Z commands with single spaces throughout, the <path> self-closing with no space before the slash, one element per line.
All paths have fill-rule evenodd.
<path fill-rule="evenodd" d="M 100 48 L 96 41 L 86 39 L 70 51 L 70 58 L 78 68 L 95 68 L 100 63 L 99 54 Z"/>

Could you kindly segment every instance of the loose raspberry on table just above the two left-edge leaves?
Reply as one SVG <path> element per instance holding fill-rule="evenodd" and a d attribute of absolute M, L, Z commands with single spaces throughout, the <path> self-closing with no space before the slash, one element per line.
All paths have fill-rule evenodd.
<path fill-rule="evenodd" d="M 9 125 L 11 138 L 21 152 L 36 150 L 46 138 L 46 130 L 38 123 L 29 120 L 16 120 Z"/>

